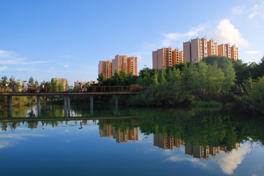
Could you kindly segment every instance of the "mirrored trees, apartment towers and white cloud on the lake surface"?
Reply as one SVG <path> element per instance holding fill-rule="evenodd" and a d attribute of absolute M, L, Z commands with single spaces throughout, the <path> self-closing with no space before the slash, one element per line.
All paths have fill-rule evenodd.
<path fill-rule="evenodd" d="M 12 118 L 0 112 L 0 126 L 2 131 L 8 132 L 17 128 L 46 130 L 45 126 L 76 126 L 82 131 L 96 125 L 99 126 L 98 137 L 113 138 L 116 143 L 139 141 L 139 133 L 146 138 L 153 135 L 154 148 L 168 152 L 177 148 L 189 157 L 189 161 L 204 159 L 205 162 L 217 163 L 226 174 L 233 174 L 250 151 L 243 147 L 244 143 L 255 142 L 263 146 L 263 120 L 237 117 L 226 109 L 119 108 L 118 113 L 116 115 L 115 109 L 111 108 L 95 109 L 91 116 L 90 109 L 79 106 L 67 109 L 61 106 L 26 107 L 23 111 L 13 108 Z M 185 160 L 179 157 L 180 154 L 167 160 Z"/>

